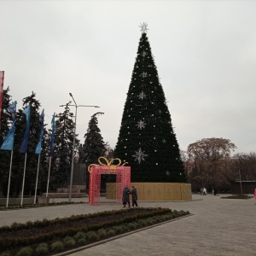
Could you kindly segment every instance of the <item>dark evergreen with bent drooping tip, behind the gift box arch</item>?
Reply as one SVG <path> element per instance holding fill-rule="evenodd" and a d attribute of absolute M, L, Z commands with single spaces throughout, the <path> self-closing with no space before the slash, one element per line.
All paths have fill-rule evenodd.
<path fill-rule="evenodd" d="M 106 144 L 103 141 L 101 130 L 98 127 L 97 115 L 102 112 L 94 113 L 89 121 L 87 132 L 84 134 L 84 162 L 86 166 L 97 164 L 98 158 L 106 153 Z M 86 188 L 89 186 L 90 172 L 86 170 Z M 106 189 L 106 175 L 101 176 L 101 187 Z"/>

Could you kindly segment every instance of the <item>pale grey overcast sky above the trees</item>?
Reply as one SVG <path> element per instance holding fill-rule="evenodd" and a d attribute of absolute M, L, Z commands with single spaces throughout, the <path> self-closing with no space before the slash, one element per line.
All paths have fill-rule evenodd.
<path fill-rule="evenodd" d="M 77 133 L 84 143 L 90 116 L 101 111 L 98 126 L 114 148 L 147 22 L 180 148 L 224 137 L 235 153 L 255 152 L 255 14 L 256 1 L 246 0 L 0 0 L 4 88 L 17 108 L 34 91 L 48 124 L 69 92 L 78 105 L 100 106 L 78 108 Z"/>

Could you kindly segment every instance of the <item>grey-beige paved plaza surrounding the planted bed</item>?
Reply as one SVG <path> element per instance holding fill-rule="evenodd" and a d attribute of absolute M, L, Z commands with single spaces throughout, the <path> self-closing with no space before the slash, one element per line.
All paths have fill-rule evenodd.
<path fill-rule="evenodd" d="M 254 255 L 256 256 L 255 200 L 221 199 L 214 195 L 193 195 L 192 201 L 138 201 L 139 207 L 170 207 L 194 214 L 167 224 L 141 230 L 71 253 L 90 255 Z M 51 200 L 52 201 L 52 200 Z M 50 201 L 50 202 L 51 202 Z M 56 201 L 56 200 L 55 200 Z M 67 201 L 67 199 L 65 199 Z M 121 209 L 114 201 L 101 199 L 100 206 L 88 198 L 73 199 L 82 204 L 0 211 L 0 226 L 43 218 L 62 218 L 73 214 Z M 125 210 L 124 210 L 125 211 Z"/>

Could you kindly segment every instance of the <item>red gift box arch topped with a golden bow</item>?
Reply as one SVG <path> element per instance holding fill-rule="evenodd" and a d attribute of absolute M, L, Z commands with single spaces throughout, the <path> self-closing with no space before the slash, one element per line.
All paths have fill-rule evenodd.
<path fill-rule="evenodd" d="M 102 160 L 106 164 L 102 163 Z M 113 161 L 118 160 L 118 165 L 113 165 Z M 90 172 L 90 182 L 89 182 L 89 203 L 91 205 L 100 205 L 100 195 L 101 195 L 101 175 L 102 174 L 116 174 L 116 202 L 122 202 L 123 189 L 125 185 L 130 187 L 131 185 L 131 167 L 119 166 L 121 160 L 118 158 L 108 161 L 105 157 L 99 157 L 98 162 L 100 165 L 92 164 L 88 167 L 88 172 Z"/>

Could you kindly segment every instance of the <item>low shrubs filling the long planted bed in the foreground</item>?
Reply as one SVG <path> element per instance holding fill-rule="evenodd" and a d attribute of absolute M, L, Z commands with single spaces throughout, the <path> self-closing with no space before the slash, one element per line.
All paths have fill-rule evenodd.
<path fill-rule="evenodd" d="M 108 217 L 109 215 L 114 215 L 114 212 L 116 215 L 119 215 L 118 214 L 119 212 L 121 212 L 122 214 L 119 215 L 119 218 L 116 218 L 116 216 L 114 216 L 115 218 L 112 218 L 110 220 L 108 220 L 108 218 L 107 219 L 101 218 L 101 221 L 100 221 L 100 219 L 98 218 L 99 216 Z M 130 213 L 130 215 L 128 213 Z M 176 218 L 178 216 L 183 216 L 187 214 L 189 214 L 189 212 L 183 212 L 183 211 L 172 212 L 170 209 L 166 209 L 166 208 L 142 208 L 142 209 L 136 208 L 136 210 L 135 209 L 133 210 L 131 208 L 131 209 L 128 209 L 127 211 L 119 210 L 119 211 L 108 211 L 108 212 L 87 214 L 86 216 L 84 215 L 84 218 L 88 218 L 90 215 L 90 218 L 97 218 L 97 222 L 92 225 L 88 225 L 85 222 L 84 226 L 79 226 L 75 228 L 69 227 L 61 230 L 51 229 L 50 231 L 44 234 L 41 234 L 39 229 L 38 234 L 32 235 L 32 236 L 19 236 L 19 237 L 2 236 L 0 238 L 0 248 L 1 248 L 0 250 L 2 252 L 7 249 L 15 251 L 19 247 L 24 247 L 23 249 L 25 251 L 30 251 L 29 249 L 27 249 L 28 246 L 38 244 L 38 247 L 36 248 L 36 250 L 45 251 L 45 244 L 49 243 L 50 241 L 55 241 L 56 244 L 53 245 L 54 243 L 52 243 L 52 246 L 60 247 L 59 249 L 55 249 L 55 250 L 63 251 L 65 247 L 74 247 L 76 244 L 81 245 L 89 241 L 90 242 L 97 241 L 107 236 L 114 236 L 115 234 L 121 234 L 129 230 L 135 230 L 143 226 L 151 225 L 157 222 L 162 222 L 166 219 Z M 65 218 L 65 223 L 67 223 L 67 219 L 70 219 L 70 221 L 73 222 L 73 220 L 77 218 L 82 218 L 82 215 Z M 154 219 L 154 221 L 152 219 Z M 62 221 L 61 218 L 57 218 L 53 221 L 44 219 L 42 223 L 50 224 L 52 227 L 53 223 L 56 223 L 56 222 L 60 223 L 61 221 Z M 37 223 L 38 222 L 39 221 L 37 221 Z M 16 224 L 16 225 L 19 225 L 19 224 Z M 10 229 L 15 229 L 16 225 L 13 224 L 10 227 Z M 34 223 L 30 223 L 30 224 L 25 224 L 24 227 L 25 227 L 25 230 L 27 230 L 30 227 L 34 228 L 35 226 L 34 226 Z M 79 234 L 80 235 L 86 234 L 86 236 L 83 237 L 83 236 L 80 236 Z M 67 239 L 67 237 L 71 237 L 71 238 L 74 237 L 74 238 Z M 64 239 L 63 242 L 65 244 L 65 247 L 60 246 L 59 240 L 61 239 Z M 20 255 L 30 255 L 30 254 L 20 254 Z M 17 256 L 20 256 L 20 255 L 17 254 Z M 33 255 L 44 255 L 44 254 L 33 254 Z"/>

